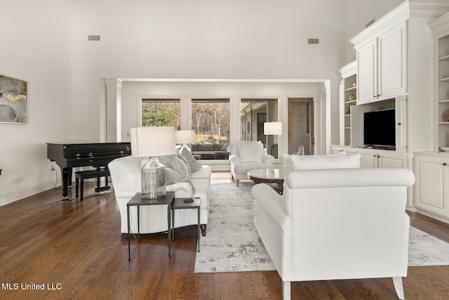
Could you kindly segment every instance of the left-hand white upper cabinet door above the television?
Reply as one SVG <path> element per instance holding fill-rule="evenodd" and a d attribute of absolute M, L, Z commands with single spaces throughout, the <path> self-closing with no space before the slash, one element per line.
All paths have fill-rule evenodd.
<path fill-rule="evenodd" d="M 357 104 L 377 99 L 377 39 L 357 49 Z"/>

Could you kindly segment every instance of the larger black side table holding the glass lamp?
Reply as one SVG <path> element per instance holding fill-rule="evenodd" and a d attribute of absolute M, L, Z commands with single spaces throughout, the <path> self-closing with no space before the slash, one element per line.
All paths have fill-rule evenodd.
<path fill-rule="evenodd" d="M 171 257 L 171 218 L 170 218 L 170 211 L 171 211 L 171 202 L 173 201 L 173 198 L 175 197 L 175 192 L 167 192 L 166 195 L 161 196 L 157 199 L 144 199 L 140 197 L 140 193 L 136 193 L 134 197 L 131 198 L 131 200 L 128 201 L 126 204 L 126 212 L 128 214 L 128 261 L 131 260 L 131 249 L 130 249 L 130 214 L 129 214 L 129 208 L 130 207 L 138 207 L 138 242 L 140 242 L 140 207 L 145 205 L 167 205 L 167 220 L 168 220 L 168 257 Z"/>

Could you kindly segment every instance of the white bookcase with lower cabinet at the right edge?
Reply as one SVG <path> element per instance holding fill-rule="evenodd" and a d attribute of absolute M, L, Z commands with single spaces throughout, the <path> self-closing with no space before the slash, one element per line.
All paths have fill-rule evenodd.
<path fill-rule="evenodd" d="M 413 152 L 415 208 L 449 223 L 449 13 L 428 23 L 433 40 L 433 151 Z"/>

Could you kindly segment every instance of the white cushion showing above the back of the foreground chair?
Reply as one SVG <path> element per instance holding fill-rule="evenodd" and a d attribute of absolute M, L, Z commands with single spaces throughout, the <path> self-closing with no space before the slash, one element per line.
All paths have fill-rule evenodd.
<path fill-rule="evenodd" d="M 360 154 L 356 155 L 292 155 L 292 170 L 356 169 L 360 168 Z"/>

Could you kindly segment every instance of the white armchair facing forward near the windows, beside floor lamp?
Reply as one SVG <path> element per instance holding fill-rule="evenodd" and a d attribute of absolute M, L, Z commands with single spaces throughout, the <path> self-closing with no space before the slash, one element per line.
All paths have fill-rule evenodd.
<path fill-rule="evenodd" d="M 231 173 L 237 186 L 241 179 L 248 179 L 248 171 L 273 168 L 274 157 L 264 154 L 264 146 L 255 141 L 239 141 L 231 144 Z"/>

